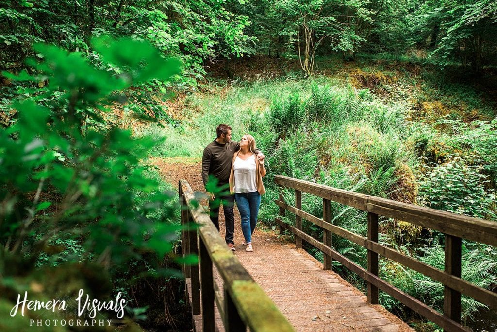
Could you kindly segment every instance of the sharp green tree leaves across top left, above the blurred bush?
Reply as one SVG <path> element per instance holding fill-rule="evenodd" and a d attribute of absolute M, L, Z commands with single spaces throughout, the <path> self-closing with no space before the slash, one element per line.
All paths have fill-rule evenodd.
<path fill-rule="evenodd" d="M 244 34 L 250 25 L 248 16 L 228 11 L 226 2 L 7 0 L 0 9 L 0 68 L 24 68 L 24 59 L 37 54 L 31 48 L 36 42 L 81 51 L 98 62 L 92 37 L 129 36 L 149 40 L 163 53 L 179 58 L 183 75 L 174 78 L 175 84 L 186 89 L 205 75 L 206 59 L 240 57 L 253 51 L 253 38 Z M 133 52 L 125 43 L 123 51 Z"/>

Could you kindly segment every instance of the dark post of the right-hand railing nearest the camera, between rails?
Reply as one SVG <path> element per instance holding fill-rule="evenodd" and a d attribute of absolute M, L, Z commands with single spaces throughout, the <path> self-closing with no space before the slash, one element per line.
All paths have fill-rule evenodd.
<path fill-rule="evenodd" d="M 461 277 L 460 237 L 445 234 L 445 272 Z M 443 314 L 461 323 L 461 293 L 445 286 L 443 292 Z"/>

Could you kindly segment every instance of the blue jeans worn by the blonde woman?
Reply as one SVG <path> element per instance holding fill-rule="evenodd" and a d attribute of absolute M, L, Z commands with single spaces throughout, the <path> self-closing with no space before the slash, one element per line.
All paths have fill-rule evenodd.
<path fill-rule="evenodd" d="M 235 194 L 240 217 L 242 217 L 242 232 L 244 233 L 245 242 L 252 241 L 252 233 L 257 223 L 257 214 L 259 213 L 260 194 L 257 191 L 253 193 Z"/>

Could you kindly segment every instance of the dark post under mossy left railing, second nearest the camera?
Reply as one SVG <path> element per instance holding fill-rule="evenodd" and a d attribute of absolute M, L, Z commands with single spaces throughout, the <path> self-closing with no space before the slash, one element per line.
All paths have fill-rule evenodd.
<path fill-rule="evenodd" d="M 202 293 L 202 327 L 204 332 L 214 332 L 214 282 L 212 277 L 212 260 L 200 239 L 200 287 Z"/>

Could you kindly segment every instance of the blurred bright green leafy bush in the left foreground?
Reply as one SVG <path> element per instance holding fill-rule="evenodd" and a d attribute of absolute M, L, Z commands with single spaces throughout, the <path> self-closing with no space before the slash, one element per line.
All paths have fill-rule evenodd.
<path fill-rule="evenodd" d="M 113 91 L 169 80 L 177 62 L 144 41 L 95 39 L 92 47 L 122 73 L 116 77 L 77 52 L 37 44 L 42 60 L 31 63 L 50 84 L 44 95 L 14 103 L 17 120 L 0 129 L 0 289 L 8 295 L 2 303 L 34 281 L 47 292 L 81 287 L 108 296 L 110 281 L 147 255 L 150 271 L 170 274 L 162 264 L 166 254 L 174 256 L 181 227 L 174 194 L 160 190 L 141 164 L 157 142 L 84 119 L 103 122 L 94 109 L 104 110 Z M 67 280 L 52 289 L 54 271 Z"/>

